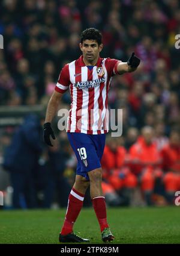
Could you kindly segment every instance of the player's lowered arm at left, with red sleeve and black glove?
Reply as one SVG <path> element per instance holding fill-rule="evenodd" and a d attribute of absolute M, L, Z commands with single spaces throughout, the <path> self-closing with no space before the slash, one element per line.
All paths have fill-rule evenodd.
<path fill-rule="evenodd" d="M 70 84 L 70 75 L 68 70 L 68 64 L 65 65 L 59 75 L 58 83 L 56 84 L 55 91 L 51 96 L 46 110 L 46 119 L 44 122 L 44 142 L 47 145 L 53 146 L 50 142 L 50 136 L 55 140 L 55 134 L 53 133 L 50 123 L 55 117 L 56 112 L 58 111 L 58 106 L 61 101 L 62 95 L 68 90 Z"/>

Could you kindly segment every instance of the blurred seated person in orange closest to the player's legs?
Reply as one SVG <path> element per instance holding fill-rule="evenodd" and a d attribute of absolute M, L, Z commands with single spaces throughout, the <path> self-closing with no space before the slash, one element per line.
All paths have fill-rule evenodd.
<path fill-rule="evenodd" d="M 116 138 L 107 139 L 107 145 L 104 148 L 101 165 L 103 168 L 104 194 L 109 192 L 110 184 L 112 190 L 115 190 L 121 198 L 121 204 L 130 205 L 131 194 L 136 187 L 136 176 L 125 166 L 127 152 L 124 146 L 118 145 Z M 106 191 L 107 190 L 107 191 Z"/>

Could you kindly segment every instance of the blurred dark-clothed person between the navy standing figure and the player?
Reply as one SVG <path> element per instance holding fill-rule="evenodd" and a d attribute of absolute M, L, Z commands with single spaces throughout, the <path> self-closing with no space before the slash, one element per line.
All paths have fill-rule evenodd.
<path fill-rule="evenodd" d="M 44 208 L 50 208 L 55 199 L 60 207 L 67 207 L 71 187 L 64 176 L 69 159 L 64 143 L 67 141 L 61 141 L 61 145 L 59 145 L 59 141 L 55 140 L 53 147 L 48 148 L 46 164 L 41 165 L 38 173 L 38 181 L 41 184 L 40 191 L 44 195 L 42 204 Z"/>

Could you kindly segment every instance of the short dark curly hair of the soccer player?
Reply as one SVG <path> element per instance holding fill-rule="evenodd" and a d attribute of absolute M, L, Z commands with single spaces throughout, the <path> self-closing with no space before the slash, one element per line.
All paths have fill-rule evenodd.
<path fill-rule="evenodd" d="M 85 40 L 95 40 L 98 43 L 98 46 L 102 43 L 102 36 L 99 30 L 96 28 L 86 28 L 80 34 L 80 42 L 83 43 Z"/>

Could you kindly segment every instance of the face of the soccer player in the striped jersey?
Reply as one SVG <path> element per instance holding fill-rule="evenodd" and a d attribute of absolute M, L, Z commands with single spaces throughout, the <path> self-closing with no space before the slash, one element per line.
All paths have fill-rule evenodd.
<path fill-rule="evenodd" d="M 83 53 L 83 58 L 88 62 L 93 62 L 97 60 L 101 50 L 103 49 L 103 44 L 98 46 L 98 43 L 95 40 L 85 40 L 83 43 L 80 43 L 80 49 Z"/>

